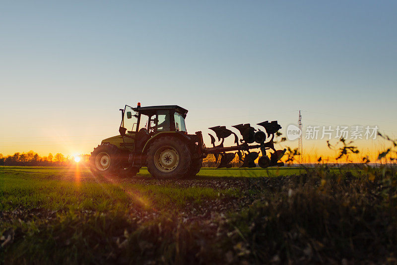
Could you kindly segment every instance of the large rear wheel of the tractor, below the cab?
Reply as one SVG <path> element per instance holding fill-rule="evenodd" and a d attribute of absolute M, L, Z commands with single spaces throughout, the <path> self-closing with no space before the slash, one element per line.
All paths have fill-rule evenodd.
<path fill-rule="evenodd" d="M 191 166 L 188 146 L 176 137 L 165 136 L 154 140 L 147 150 L 146 166 L 157 178 L 181 178 Z"/>

